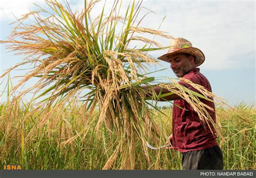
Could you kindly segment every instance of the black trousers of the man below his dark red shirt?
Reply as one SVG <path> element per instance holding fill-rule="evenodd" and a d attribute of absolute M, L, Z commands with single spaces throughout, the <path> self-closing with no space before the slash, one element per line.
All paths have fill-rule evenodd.
<path fill-rule="evenodd" d="M 223 154 L 218 145 L 182 155 L 183 169 L 223 169 Z"/>

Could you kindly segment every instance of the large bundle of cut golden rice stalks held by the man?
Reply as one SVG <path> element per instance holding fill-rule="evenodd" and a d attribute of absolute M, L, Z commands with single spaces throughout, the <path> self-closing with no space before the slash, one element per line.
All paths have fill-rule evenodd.
<path fill-rule="evenodd" d="M 154 77 L 146 77 L 144 73 L 147 65 L 156 64 L 156 60 L 147 52 L 163 47 L 153 40 L 136 37 L 134 34 L 148 33 L 164 38 L 172 37 L 161 31 L 140 27 L 140 21 L 136 24 L 141 3 L 135 4 L 135 1 L 127 8 L 125 17 L 119 16 L 122 3 L 114 2 L 109 15 L 104 15 L 103 8 L 102 13 L 93 20 L 90 14 L 97 1 L 85 1 L 81 13 L 73 13 L 68 3 L 64 8 L 57 1 L 45 2 L 51 8 L 51 12 L 41 8 L 41 11 L 24 15 L 17 20 L 18 25 L 9 40 L 1 41 L 9 43 L 8 48 L 11 51 L 19 51 L 18 54 L 25 55 L 22 63 L 10 68 L 1 77 L 18 66 L 28 63 L 33 65 L 33 69 L 23 77 L 13 91 L 32 77 L 39 77 L 39 81 L 33 87 L 24 90 L 16 98 L 30 91 L 38 94 L 37 98 L 50 94 L 39 105 L 45 108 L 53 107 L 49 115 L 55 111 L 54 108 L 63 107 L 70 99 L 75 103 L 81 92 L 89 89 L 90 91 L 83 96 L 89 118 L 95 119 L 93 111 L 97 105 L 100 110 L 95 132 L 100 132 L 104 127 L 110 135 L 113 131 L 117 133 L 118 138 L 116 149 L 109 156 L 103 169 L 136 168 L 137 140 L 142 143 L 140 146 L 146 160 L 150 161 L 145 143 L 147 139 L 151 139 L 154 144 L 159 144 L 159 131 L 151 120 L 151 109 L 145 96 L 146 92 L 150 92 L 153 99 L 162 95 L 157 96 L 152 89 L 151 82 L 154 81 Z M 49 16 L 42 18 L 41 13 Z M 31 17 L 35 19 L 34 22 L 24 24 L 25 20 Z M 119 29 L 118 25 L 121 26 Z M 143 42 L 145 46 L 140 49 L 129 47 L 133 40 Z M 154 47 L 150 47 L 151 45 Z M 142 84 L 149 86 L 149 90 L 142 89 Z M 194 103 L 193 107 L 201 108 L 197 111 L 200 118 L 207 122 L 207 119 L 204 119 L 207 118 L 207 112 L 200 106 L 199 99 L 193 102 L 193 98 L 198 96 L 190 91 L 179 92 L 185 89 L 181 87 L 177 90 L 177 86 L 178 83 L 173 82 L 161 87 L 169 87 L 173 93 Z M 173 87 L 175 89 L 172 90 Z M 213 97 L 210 92 L 205 91 L 204 94 L 208 95 L 199 97 Z M 42 118 L 42 124 L 47 118 Z M 74 139 L 76 137 L 66 140 L 64 144 Z M 122 159 L 121 165 L 114 166 L 118 158 Z"/>

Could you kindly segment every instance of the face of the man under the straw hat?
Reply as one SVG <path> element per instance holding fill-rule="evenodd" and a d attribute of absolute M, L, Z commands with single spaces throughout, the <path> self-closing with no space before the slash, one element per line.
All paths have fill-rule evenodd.
<path fill-rule="evenodd" d="M 185 74 L 190 72 L 194 67 L 196 67 L 193 65 L 193 57 L 192 59 L 191 57 L 192 56 L 187 58 L 186 55 L 182 53 L 173 54 L 169 57 L 171 68 L 177 77 L 183 77 Z"/>

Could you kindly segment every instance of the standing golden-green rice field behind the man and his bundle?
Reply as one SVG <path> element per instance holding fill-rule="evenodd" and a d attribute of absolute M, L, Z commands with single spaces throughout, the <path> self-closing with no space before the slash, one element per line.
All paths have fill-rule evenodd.
<path fill-rule="evenodd" d="M 161 111 L 168 117 L 157 112 L 152 115 L 161 130 L 159 145 L 165 144 L 172 125 L 171 109 Z M 254 107 L 244 104 L 235 111 L 217 108 L 218 143 L 225 169 L 255 168 L 255 113 Z M 98 113 L 94 115 L 95 120 L 87 117 L 83 106 L 69 105 L 50 112 L 35 110 L 30 104 L 2 103 L 0 167 L 21 164 L 23 169 L 102 169 L 118 143 L 115 133 L 110 134 L 105 127 L 96 134 Z M 148 162 L 140 144 L 136 143 L 136 169 L 182 169 L 177 151 L 150 150 Z M 120 156 L 117 158 L 112 169 L 120 168 Z"/>

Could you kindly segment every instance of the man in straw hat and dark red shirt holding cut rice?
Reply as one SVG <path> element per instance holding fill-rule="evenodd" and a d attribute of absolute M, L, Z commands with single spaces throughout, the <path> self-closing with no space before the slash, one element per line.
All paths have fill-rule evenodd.
<path fill-rule="evenodd" d="M 183 38 L 173 39 L 170 46 L 169 51 L 158 59 L 171 63 L 170 67 L 177 77 L 200 84 L 211 91 L 210 83 L 197 68 L 205 60 L 204 53 L 200 49 L 192 47 L 191 42 Z M 180 81 L 179 84 L 198 92 L 184 81 Z M 154 87 L 154 90 L 157 94 L 160 90 L 162 90 L 161 94 L 170 92 L 160 87 Z M 161 98 L 161 101 L 166 100 L 174 100 L 173 131 L 168 139 L 168 143 L 171 143 L 172 146 L 167 148 L 173 148 L 182 153 L 183 168 L 223 169 L 223 154 L 217 145 L 215 130 L 213 129 L 213 134 L 207 126 L 204 128 L 197 113 L 178 95 L 173 94 Z M 206 99 L 200 100 L 213 109 L 213 111 L 207 111 L 215 122 L 214 103 Z"/>

